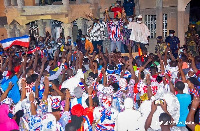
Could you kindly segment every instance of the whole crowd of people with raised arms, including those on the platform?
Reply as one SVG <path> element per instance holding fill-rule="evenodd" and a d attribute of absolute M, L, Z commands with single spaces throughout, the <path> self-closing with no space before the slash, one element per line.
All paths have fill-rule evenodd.
<path fill-rule="evenodd" d="M 88 15 L 93 25 L 74 43 L 47 32 L 29 48 L 0 50 L 0 130 L 200 130 L 199 54 L 181 48 L 173 30 L 148 53 L 142 16 L 109 10 L 113 19 L 108 10 L 104 21 Z"/>

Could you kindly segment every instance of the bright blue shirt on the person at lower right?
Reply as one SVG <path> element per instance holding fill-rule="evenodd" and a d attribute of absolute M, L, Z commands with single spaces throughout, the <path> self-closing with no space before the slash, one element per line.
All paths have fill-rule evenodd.
<path fill-rule="evenodd" d="M 186 126 L 186 118 L 189 113 L 188 106 L 191 104 L 191 95 L 190 94 L 177 94 L 176 97 L 180 103 L 180 117 L 177 126 Z"/>

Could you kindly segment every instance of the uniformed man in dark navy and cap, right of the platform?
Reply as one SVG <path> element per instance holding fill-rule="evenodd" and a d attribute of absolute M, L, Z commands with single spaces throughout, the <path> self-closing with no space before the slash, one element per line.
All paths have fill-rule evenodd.
<path fill-rule="evenodd" d="M 178 57 L 178 50 L 180 48 L 180 40 L 174 36 L 175 31 L 169 30 L 169 36 L 165 39 L 165 42 L 170 47 L 172 54 L 175 58 Z"/>

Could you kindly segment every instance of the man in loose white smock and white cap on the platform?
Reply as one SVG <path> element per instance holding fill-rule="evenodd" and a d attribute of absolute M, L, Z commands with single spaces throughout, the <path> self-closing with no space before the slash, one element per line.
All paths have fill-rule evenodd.
<path fill-rule="evenodd" d="M 132 29 L 130 40 L 139 44 L 141 49 L 144 49 L 145 45 L 149 43 L 148 36 L 150 36 L 150 31 L 148 27 L 142 23 L 142 15 L 137 17 L 137 22 L 130 22 L 128 29 Z"/>

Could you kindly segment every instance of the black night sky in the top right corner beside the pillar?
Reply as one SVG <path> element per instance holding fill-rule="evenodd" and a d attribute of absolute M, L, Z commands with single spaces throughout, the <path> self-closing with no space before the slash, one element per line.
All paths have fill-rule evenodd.
<path fill-rule="evenodd" d="M 200 0 L 191 0 L 190 2 L 190 21 L 200 20 Z"/>

